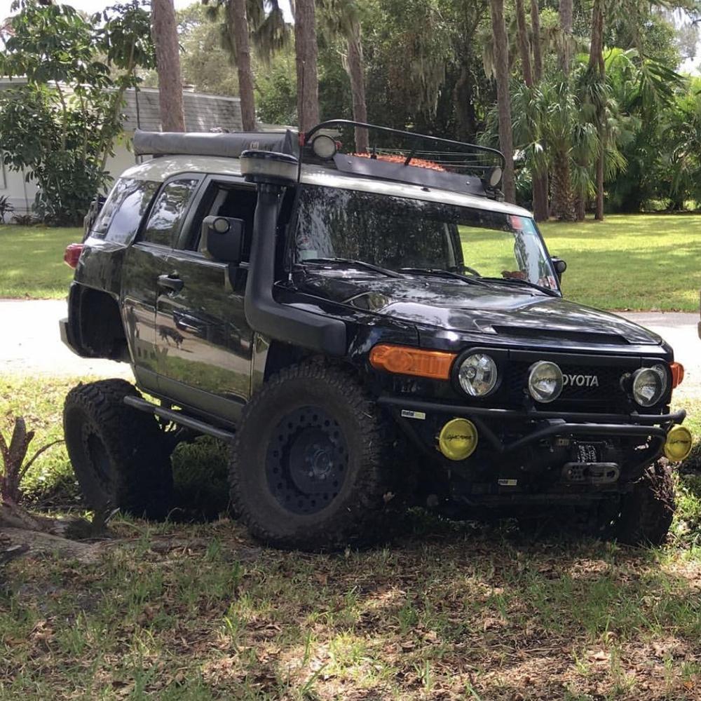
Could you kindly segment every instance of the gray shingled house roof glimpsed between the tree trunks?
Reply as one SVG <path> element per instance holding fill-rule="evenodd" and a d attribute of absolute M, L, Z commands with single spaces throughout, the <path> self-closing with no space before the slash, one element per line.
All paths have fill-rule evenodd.
<path fill-rule="evenodd" d="M 14 88 L 25 83 L 23 78 L 9 80 L 0 78 L 0 90 Z M 137 109 L 138 102 L 138 109 Z M 161 116 L 156 88 L 140 88 L 138 100 L 136 91 L 127 90 L 125 94 L 124 130 L 132 132 L 137 128 L 144 131 L 160 131 Z M 185 111 L 185 128 L 191 132 L 208 132 L 215 128 L 228 131 L 241 131 L 241 102 L 238 97 L 222 95 L 203 95 L 202 93 L 183 92 Z"/>

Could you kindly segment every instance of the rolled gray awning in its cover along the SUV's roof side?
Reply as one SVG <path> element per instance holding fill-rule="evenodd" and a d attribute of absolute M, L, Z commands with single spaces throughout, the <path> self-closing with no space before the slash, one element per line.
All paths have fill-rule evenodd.
<path fill-rule="evenodd" d="M 134 134 L 135 156 L 218 156 L 240 158 L 243 151 L 277 151 L 299 156 L 299 136 L 284 132 L 147 132 Z"/>

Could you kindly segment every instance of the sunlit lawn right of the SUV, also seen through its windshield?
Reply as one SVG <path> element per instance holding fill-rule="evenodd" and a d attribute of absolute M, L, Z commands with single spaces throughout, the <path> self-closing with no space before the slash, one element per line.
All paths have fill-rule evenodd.
<path fill-rule="evenodd" d="M 605 222 L 549 222 L 540 229 L 563 258 L 568 299 L 602 309 L 697 311 L 701 290 L 701 216 L 611 215 Z M 500 276 L 515 263 L 503 234 L 463 231 L 465 264 Z"/>

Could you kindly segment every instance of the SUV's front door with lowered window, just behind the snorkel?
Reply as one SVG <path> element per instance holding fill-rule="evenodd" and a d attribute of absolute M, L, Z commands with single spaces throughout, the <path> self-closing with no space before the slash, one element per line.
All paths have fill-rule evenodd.
<path fill-rule="evenodd" d="M 210 178 L 166 261 L 156 303 L 159 385 L 175 402 L 236 421 L 250 396 L 253 333 L 243 309 L 246 267 L 200 250 L 208 215 L 245 222 L 250 250 L 256 191 L 236 178 Z"/>

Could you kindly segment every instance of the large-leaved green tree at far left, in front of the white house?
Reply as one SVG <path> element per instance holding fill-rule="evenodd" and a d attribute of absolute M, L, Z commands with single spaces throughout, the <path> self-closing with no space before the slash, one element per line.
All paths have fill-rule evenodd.
<path fill-rule="evenodd" d="M 36 182 L 34 209 L 51 224 L 79 224 L 106 189 L 124 90 L 136 84 L 137 65 L 154 60 L 139 0 L 93 22 L 71 6 L 27 1 L 0 54 L 0 75 L 26 79 L 0 95 L 4 163 Z"/>

